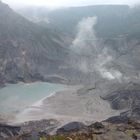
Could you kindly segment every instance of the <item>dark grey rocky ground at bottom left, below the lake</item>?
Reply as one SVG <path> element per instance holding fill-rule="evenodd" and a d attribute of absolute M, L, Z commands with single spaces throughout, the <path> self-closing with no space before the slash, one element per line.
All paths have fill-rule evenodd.
<path fill-rule="evenodd" d="M 60 123 L 53 119 L 25 122 L 19 126 L 0 124 L 0 140 L 38 140 L 59 125 Z"/>

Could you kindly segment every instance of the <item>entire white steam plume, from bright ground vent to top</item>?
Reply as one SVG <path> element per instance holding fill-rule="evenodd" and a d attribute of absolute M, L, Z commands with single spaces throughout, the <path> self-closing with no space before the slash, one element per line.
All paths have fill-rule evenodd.
<path fill-rule="evenodd" d="M 103 78 L 121 81 L 122 73 L 108 67 L 115 58 L 108 53 L 107 47 L 98 45 L 100 40 L 96 37 L 94 29 L 96 24 L 97 17 L 83 18 L 78 23 L 78 32 L 71 46 L 71 49 L 79 55 L 75 66 L 85 73 L 96 71 Z"/>

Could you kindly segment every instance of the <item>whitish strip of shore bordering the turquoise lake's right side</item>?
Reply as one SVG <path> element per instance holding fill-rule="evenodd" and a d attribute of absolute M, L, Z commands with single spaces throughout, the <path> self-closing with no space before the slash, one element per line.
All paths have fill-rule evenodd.
<path fill-rule="evenodd" d="M 64 89 L 56 91 L 56 92 L 52 92 L 50 93 L 50 95 L 42 98 L 41 100 L 33 103 L 29 108 L 23 110 L 21 113 L 18 114 L 17 118 L 15 119 L 14 124 L 16 123 L 24 123 L 24 122 L 28 122 L 28 121 L 36 121 L 36 120 L 42 120 L 42 119 L 53 119 L 54 116 L 57 116 L 55 114 L 51 114 L 49 111 L 47 113 L 47 116 L 43 117 L 42 114 L 40 114 L 38 111 L 41 111 L 44 108 L 44 103 L 46 100 L 49 100 L 51 98 L 57 97 L 57 94 L 63 94 L 64 92 L 66 93 L 67 91 L 71 91 L 71 89 L 73 90 L 78 90 L 79 88 L 81 88 L 82 86 L 68 86 L 65 85 Z M 34 111 L 37 111 L 38 113 L 33 113 Z M 34 118 L 34 116 L 36 116 L 36 118 Z M 53 117 L 50 117 L 53 116 Z M 59 117 L 61 118 L 61 116 Z M 58 120 L 59 120 L 58 118 Z"/>

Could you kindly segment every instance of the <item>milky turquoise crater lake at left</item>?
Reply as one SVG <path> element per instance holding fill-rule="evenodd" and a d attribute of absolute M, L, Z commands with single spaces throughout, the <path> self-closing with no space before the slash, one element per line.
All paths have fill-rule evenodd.
<path fill-rule="evenodd" d="M 0 116 L 16 115 L 42 98 L 65 88 L 65 85 L 46 82 L 7 84 L 0 89 Z"/>

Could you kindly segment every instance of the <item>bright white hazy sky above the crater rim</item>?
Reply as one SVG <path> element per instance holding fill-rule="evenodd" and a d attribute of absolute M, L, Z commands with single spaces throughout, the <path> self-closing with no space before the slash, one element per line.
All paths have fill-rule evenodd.
<path fill-rule="evenodd" d="M 135 4 L 140 3 L 140 0 L 2 0 L 11 6 L 15 5 L 44 5 L 51 7 L 62 6 L 83 6 L 96 4 Z"/>

